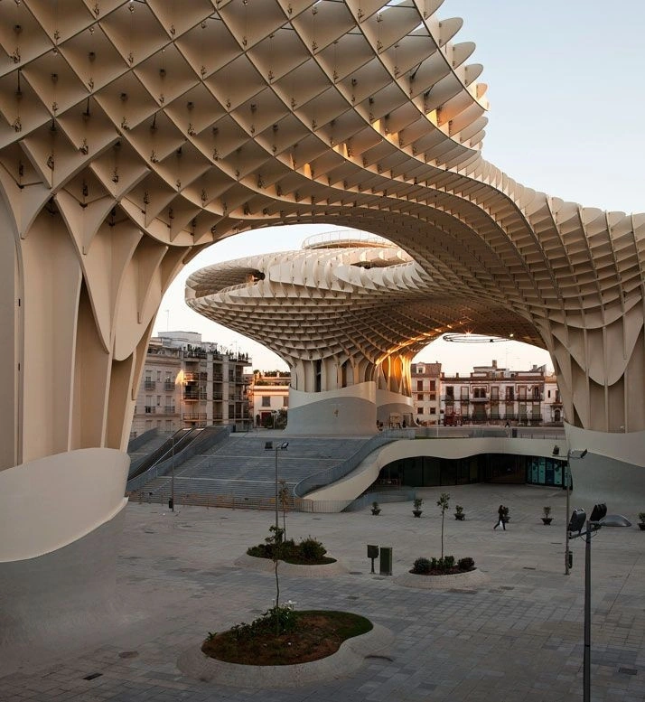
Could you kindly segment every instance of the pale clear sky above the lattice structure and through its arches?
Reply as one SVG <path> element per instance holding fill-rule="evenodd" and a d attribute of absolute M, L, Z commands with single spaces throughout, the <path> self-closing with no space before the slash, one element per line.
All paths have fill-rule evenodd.
<path fill-rule="evenodd" d="M 477 44 L 469 62 L 483 64 L 480 80 L 489 86 L 487 160 L 563 200 L 645 211 L 645 2 L 445 0 L 438 15 L 463 17 L 455 41 Z M 264 229 L 209 248 L 173 282 L 155 330 L 201 332 L 205 341 L 248 351 L 254 368 L 285 368 L 259 344 L 189 310 L 184 281 L 210 263 L 299 248 L 311 233 L 329 229 Z M 467 372 L 493 358 L 513 369 L 550 365 L 545 351 L 519 343 L 434 342 L 418 358 L 440 360 L 446 372 Z"/>

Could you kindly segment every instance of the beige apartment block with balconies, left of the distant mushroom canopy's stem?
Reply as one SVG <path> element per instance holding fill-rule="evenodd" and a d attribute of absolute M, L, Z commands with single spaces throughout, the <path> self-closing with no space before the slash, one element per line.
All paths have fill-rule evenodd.
<path fill-rule="evenodd" d="M 148 429 L 252 424 L 250 365 L 196 332 L 165 332 L 150 340 L 131 435 Z"/>

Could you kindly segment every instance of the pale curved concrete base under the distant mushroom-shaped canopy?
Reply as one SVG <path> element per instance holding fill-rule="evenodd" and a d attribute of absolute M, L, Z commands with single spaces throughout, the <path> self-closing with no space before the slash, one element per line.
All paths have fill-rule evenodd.
<path fill-rule="evenodd" d="M 317 436 L 375 434 L 375 383 L 315 393 L 289 388 L 287 431 L 291 435 Z"/>

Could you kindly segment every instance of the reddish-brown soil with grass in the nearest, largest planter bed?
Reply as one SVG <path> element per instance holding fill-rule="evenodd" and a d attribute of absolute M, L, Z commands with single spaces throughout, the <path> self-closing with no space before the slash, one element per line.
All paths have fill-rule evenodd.
<path fill-rule="evenodd" d="M 308 663 L 331 656 L 343 641 L 369 632 L 372 623 L 359 614 L 308 610 L 294 612 L 292 631 L 276 635 L 269 628 L 250 635 L 220 632 L 201 646 L 210 658 L 254 666 Z"/>

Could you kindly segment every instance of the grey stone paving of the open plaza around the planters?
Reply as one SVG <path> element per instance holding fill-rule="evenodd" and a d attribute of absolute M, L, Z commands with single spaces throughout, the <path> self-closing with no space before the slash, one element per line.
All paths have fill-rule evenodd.
<path fill-rule="evenodd" d="M 446 513 L 444 551 L 470 556 L 487 581 L 468 588 L 397 585 L 420 556 L 438 557 L 441 491 L 462 504 Z M 411 503 L 338 515 L 289 513 L 287 536 L 313 536 L 348 572 L 283 575 L 281 598 L 298 609 L 333 608 L 369 617 L 391 632 L 359 669 L 299 688 L 238 688 L 192 679 L 177 666 L 207 632 L 248 622 L 275 597 L 272 574 L 235 565 L 268 534 L 271 512 L 130 504 L 118 559 L 121 615 L 83 641 L 46 641 L 42 650 L 2 651 L 2 702 L 557 702 L 582 698 L 584 543 L 572 541 L 564 575 L 565 494 L 532 486 L 424 489 Z M 602 496 L 599 496 L 602 500 Z M 506 531 L 493 531 L 500 503 Z M 555 519 L 541 520 L 550 505 Z M 573 506 L 578 505 L 575 493 Z M 620 512 L 620 505 L 609 505 Z M 636 521 L 635 514 L 627 515 Z M 367 544 L 392 547 L 394 576 L 370 575 Z M 377 561 L 378 567 L 378 561 Z M 645 700 L 645 533 L 602 529 L 592 546 L 592 699 Z"/>

